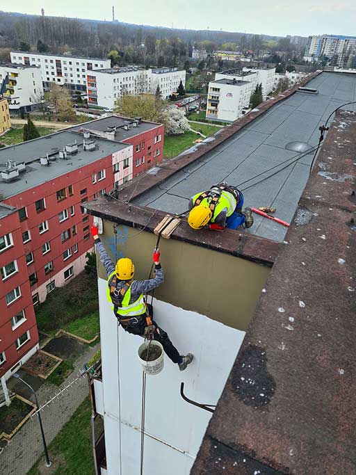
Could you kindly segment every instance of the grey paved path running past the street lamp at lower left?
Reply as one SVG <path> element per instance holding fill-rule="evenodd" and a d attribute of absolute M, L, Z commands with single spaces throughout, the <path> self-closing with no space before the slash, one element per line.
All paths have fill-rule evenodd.
<path fill-rule="evenodd" d="M 64 387 L 78 376 L 79 371 L 83 369 L 83 364 L 88 362 L 99 348 L 100 344 L 88 348 L 86 353 L 83 353 L 76 360 L 73 373 L 68 376 L 61 387 Z M 55 392 L 58 392 L 56 386 L 42 385 L 37 393 L 40 405 L 45 401 L 49 401 Z M 47 444 L 56 437 L 59 430 L 70 419 L 76 408 L 78 408 L 88 394 L 88 380 L 86 376 L 83 376 L 79 379 L 78 383 L 72 385 L 67 392 L 58 396 L 53 403 L 41 411 Z M 0 474 L 25 475 L 42 454 L 43 446 L 40 427 L 38 417 L 35 416 L 24 424 L 21 430 L 14 435 L 13 439 L 8 442 L 2 453 L 0 453 Z"/>

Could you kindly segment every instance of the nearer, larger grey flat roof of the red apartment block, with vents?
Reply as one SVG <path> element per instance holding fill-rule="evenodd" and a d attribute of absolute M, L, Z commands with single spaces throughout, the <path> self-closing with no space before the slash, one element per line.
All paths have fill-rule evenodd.
<path fill-rule="evenodd" d="M 83 150 L 83 134 L 76 131 L 59 131 L 19 145 L 1 148 L 0 172 L 9 169 L 9 160 L 16 163 L 17 166 L 20 163 L 24 163 L 26 166 L 26 169 L 20 171 L 19 176 L 13 181 L 6 182 L 0 177 L 0 195 L 2 199 L 10 198 L 10 196 L 22 193 L 34 186 L 49 182 L 51 179 L 85 167 L 89 163 L 127 147 L 125 143 L 118 143 L 105 138 L 95 137 L 94 140 L 94 150 Z M 74 145 L 75 143 L 78 145 L 78 151 L 75 154 L 67 154 L 66 159 L 59 158 L 59 150 L 63 150 L 65 145 Z M 40 158 L 47 157 L 47 154 L 49 154 L 49 165 L 42 165 Z"/>

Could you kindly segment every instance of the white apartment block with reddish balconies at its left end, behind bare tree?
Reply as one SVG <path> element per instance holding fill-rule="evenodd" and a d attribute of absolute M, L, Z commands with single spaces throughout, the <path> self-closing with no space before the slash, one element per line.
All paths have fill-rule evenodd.
<path fill-rule="evenodd" d="M 113 109 L 123 95 L 154 94 L 157 86 L 161 97 L 167 99 L 177 91 L 180 81 L 185 86 L 186 72 L 177 68 L 145 70 L 139 66 L 127 66 L 92 70 L 88 71 L 87 77 L 88 104 Z"/>

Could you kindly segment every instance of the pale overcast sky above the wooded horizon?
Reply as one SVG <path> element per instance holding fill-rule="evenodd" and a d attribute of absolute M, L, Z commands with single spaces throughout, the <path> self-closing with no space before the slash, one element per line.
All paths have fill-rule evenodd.
<path fill-rule="evenodd" d="M 356 35 L 356 0 L 12 0 L 13 12 L 267 35 Z M 4 7 L 5 5 L 3 5 Z"/>

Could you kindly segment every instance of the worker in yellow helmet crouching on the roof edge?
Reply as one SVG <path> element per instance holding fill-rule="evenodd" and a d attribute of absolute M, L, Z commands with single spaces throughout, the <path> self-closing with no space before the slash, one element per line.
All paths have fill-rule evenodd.
<path fill-rule="evenodd" d="M 192 196 L 189 202 L 188 224 L 193 230 L 206 228 L 223 230 L 229 227 L 236 230 L 239 226 L 251 227 L 253 216 L 251 208 L 243 207 L 243 194 L 236 186 L 220 183 Z"/>

